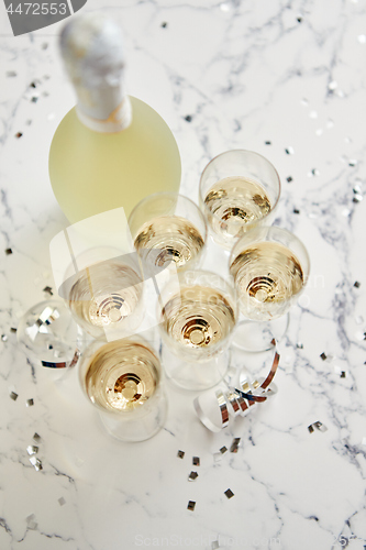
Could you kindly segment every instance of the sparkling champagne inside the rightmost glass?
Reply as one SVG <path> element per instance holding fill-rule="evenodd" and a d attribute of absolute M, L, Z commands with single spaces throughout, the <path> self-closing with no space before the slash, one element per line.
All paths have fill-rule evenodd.
<path fill-rule="evenodd" d="M 243 250 L 233 260 L 230 273 L 240 293 L 243 314 L 256 320 L 284 315 L 304 284 L 298 258 L 274 242 L 258 242 Z"/>

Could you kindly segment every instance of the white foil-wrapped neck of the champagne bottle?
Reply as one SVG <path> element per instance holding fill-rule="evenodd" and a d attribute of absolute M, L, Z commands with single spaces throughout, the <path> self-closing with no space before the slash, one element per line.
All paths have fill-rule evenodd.
<path fill-rule="evenodd" d="M 98 13 L 78 16 L 63 29 L 60 51 L 82 124 L 97 132 L 127 128 L 132 111 L 123 86 L 122 36 L 115 23 Z"/>

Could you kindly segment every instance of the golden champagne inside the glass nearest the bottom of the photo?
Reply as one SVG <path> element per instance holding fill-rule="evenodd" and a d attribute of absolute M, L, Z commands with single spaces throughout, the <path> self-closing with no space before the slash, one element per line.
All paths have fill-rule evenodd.
<path fill-rule="evenodd" d="M 127 411 L 149 399 L 159 381 L 159 361 L 152 350 L 127 339 L 102 345 L 85 376 L 90 400 L 106 409 Z"/>

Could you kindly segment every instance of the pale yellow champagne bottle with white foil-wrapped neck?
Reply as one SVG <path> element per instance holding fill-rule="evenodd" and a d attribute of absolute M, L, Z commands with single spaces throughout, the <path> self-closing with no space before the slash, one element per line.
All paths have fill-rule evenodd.
<path fill-rule="evenodd" d="M 100 13 L 73 19 L 60 51 L 77 105 L 59 123 L 49 151 L 49 178 L 70 223 L 145 196 L 178 191 L 180 155 L 166 122 L 125 95 L 119 26 Z"/>

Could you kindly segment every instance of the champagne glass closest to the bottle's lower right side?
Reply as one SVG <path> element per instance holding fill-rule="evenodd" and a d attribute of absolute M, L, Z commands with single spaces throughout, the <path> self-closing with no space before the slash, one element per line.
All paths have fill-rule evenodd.
<path fill-rule="evenodd" d="M 177 271 L 197 267 L 208 228 L 192 200 L 176 193 L 156 193 L 131 212 L 134 246 L 148 276 L 173 265 Z"/>

